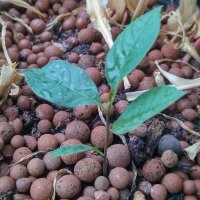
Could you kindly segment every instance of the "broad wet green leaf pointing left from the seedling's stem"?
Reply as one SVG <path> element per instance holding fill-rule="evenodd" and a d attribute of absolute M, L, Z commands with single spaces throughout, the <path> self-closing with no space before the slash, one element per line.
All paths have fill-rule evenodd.
<path fill-rule="evenodd" d="M 80 67 L 55 60 L 41 69 L 22 69 L 27 83 L 39 97 L 63 107 L 100 104 L 96 85 Z"/>

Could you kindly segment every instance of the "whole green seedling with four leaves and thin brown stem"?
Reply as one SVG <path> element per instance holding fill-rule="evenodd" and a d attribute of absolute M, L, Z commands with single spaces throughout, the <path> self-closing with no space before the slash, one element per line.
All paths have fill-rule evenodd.
<path fill-rule="evenodd" d="M 110 132 L 127 133 L 185 94 L 175 87 L 155 87 L 130 103 L 112 126 L 110 124 L 110 108 L 117 94 L 119 83 L 141 62 L 152 47 L 160 30 L 160 12 L 161 7 L 157 7 L 128 25 L 108 52 L 105 72 L 111 89 L 107 108 L 103 108 L 96 85 L 80 67 L 57 60 L 41 69 L 22 70 L 33 92 L 43 99 L 63 107 L 91 104 L 102 107 L 105 111 L 107 127 L 104 155 L 101 153 L 104 156 L 104 175 L 107 174 L 107 141 Z M 52 152 L 52 156 L 88 150 L 99 152 L 96 147 L 78 144 L 60 147 Z"/>

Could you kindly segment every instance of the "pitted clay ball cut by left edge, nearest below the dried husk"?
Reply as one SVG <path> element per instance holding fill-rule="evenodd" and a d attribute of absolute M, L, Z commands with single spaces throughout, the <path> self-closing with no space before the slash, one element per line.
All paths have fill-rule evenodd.
<path fill-rule="evenodd" d="M 13 127 L 8 122 L 0 122 L 0 137 L 8 142 L 14 136 Z"/>

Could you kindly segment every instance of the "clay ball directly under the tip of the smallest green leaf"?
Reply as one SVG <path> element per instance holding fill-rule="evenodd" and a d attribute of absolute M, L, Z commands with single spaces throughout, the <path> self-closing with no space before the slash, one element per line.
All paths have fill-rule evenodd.
<path fill-rule="evenodd" d="M 45 167 L 49 171 L 57 170 L 61 165 L 61 158 L 58 157 L 52 157 L 51 152 L 48 152 L 45 154 L 43 158 L 43 162 L 45 164 Z"/>

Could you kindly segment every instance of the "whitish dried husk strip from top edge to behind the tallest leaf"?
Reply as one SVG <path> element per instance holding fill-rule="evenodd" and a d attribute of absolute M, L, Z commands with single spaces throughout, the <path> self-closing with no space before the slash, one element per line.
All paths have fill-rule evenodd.
<path fill-rule="evenodd" d="M 86 0 L 87 13 L 90 15 L 91 22 L 104 37 L 105 41 L 111 48 L 113 45 L 111 27 L 106 17 L 106 11 L 99 0 Z"/>

